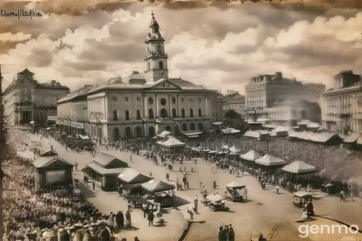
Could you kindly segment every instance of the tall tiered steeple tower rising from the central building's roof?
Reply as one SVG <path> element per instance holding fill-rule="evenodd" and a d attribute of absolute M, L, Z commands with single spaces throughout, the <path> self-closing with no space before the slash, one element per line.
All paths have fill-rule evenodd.
<path fill-rule="evenodd" d="M 145 79 L 146 82 L 155 82 L 161 78 L 168 78 L 167 54 L 164 48 L 164 39 L 159 32 L 159 25 L 152 12 L 152 20 L 149 26 L 152 29 L 145 40 L 146 63 Z"/>

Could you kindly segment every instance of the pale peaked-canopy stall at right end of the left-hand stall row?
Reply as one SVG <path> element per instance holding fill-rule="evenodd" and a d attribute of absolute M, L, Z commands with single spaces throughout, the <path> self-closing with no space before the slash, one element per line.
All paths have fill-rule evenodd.
<path fill-rule="evenodd" d="M 173 189 L 175 186 L 161 179 L 155 178 L 142 183 L 143 194 L 150 204 L 160 203 L 161 207 L 170 207 L 173 205 Z"/>

